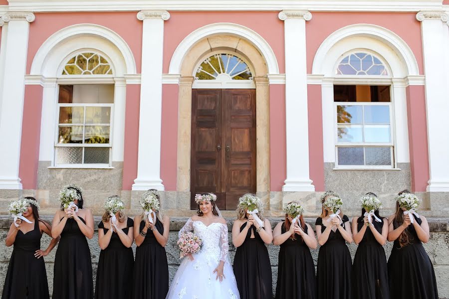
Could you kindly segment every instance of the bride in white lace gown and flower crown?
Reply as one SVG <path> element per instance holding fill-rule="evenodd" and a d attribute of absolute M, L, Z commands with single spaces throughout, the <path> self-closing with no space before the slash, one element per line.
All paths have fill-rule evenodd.
<path fill-rule="evenodd" d="M 179 266 L 167 299 L 239 299 L 229 260 L 227 225 L 213 193 L 197 194 L 196 216 L 179 231 L 194 231 L 203 240 L 200 252 L 188 254 Z M 204 287 L 207 288 L 204 288 Z"/>

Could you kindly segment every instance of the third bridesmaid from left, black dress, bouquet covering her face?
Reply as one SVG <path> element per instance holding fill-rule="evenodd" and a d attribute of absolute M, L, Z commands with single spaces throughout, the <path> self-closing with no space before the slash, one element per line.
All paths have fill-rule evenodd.
<path fill-rule="evenodd" d="M 95 299 L 130 298 L 133 281 L 134 221 L 125 216 L 125 205 L 117 195 L 106 200 L 98 224 L 98 260 Z"/>

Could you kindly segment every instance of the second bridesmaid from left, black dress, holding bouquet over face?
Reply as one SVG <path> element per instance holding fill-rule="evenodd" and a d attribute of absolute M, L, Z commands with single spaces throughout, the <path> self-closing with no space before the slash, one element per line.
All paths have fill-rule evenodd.
<path fill-rule="evenodd" d="M 74 192 L 73 192 L 74 191 Z M 92 261 L 87 239 L 94 234 L 92 212 L 83 209 L 82 189 L 74 184 L 65 186 L 61 194 L 74 196 L 73 207 L 56 212 L 53 218 L 51 234 L 61 235 L 54 258 L 54 279 L 52 298 L 92 299 Z M 73 193 L 75 195 L 73 195 Z"/>

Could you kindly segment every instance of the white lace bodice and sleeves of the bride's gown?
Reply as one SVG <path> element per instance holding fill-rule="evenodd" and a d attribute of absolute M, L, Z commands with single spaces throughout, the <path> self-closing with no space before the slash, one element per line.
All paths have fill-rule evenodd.
<path fill-rule="evenodd" d="M 202 221 L 193 221 L 192 218 L 186 222 L 179 231 L 178 236 L 185 232 L 193 231 L 203 240 L 202 249 L 199 254 L 211 257 L 214 260 L 227 262 L 229 252 L 227 226 L 223 223 L 213 222 L 206 226 Z"/>

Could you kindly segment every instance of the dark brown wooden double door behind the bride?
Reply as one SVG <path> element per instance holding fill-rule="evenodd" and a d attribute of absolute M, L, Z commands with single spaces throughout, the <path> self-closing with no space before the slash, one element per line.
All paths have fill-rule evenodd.
<path fill-rule="evenodd" d="M 217 194 L 220 209 L 256 191 L 255 89 L 192 91 L 191 208 L 195 194 Z"/>

